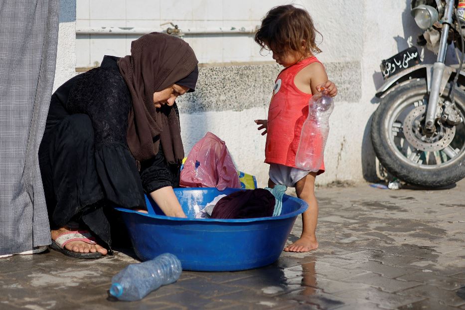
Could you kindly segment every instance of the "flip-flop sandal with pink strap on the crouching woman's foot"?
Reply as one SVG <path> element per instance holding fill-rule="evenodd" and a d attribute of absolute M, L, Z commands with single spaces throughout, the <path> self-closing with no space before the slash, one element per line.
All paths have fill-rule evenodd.
<path fill-rule="evenodd" d="M 99 252 L 80 253 L 65 249 L 65 245 L 72 241 L 83 241 L 88 244 L 97 244 L 97 242 L 95 242 L 95 238 L 87 230 L 77 230 L 60 234 L 56 240 L 52 240 L 50 248 L 74 258 L 93 259 L 102 257 L 102 253 Z"/>

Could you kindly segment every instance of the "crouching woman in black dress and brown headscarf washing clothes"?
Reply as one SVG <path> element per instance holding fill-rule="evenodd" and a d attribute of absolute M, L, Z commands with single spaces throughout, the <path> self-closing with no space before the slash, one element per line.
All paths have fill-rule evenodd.
<path fill-rule="evenodd" d="M 194 91 L 197 63 L 186 42 L 153 32 L 52 95 L 39 163 L 53 249 L 106 255 L 113 207 L 144 210 L 144 192 L 185 217 L 172 189 L 184 157 L 174 101 Z"/>

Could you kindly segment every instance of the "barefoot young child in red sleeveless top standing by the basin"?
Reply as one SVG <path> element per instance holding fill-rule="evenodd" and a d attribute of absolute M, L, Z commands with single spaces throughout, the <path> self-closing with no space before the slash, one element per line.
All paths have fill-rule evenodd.
<path fill-rule="evenodd" d="M 273 52 L 273 59 L 284 69 L 278 75 L 273 90 L 267 120 L 255 120 L 267 134 L 265 162 L 270 164 L 268 186 L 276 184 L 295 187 L 299 198 L 309 204 L 302 215 L 303 230 L 299 240 L 285 251 L 307 252 L 318 247 L 315 230 L 318 203 L 314 194 L 316 175 L 324 172 L 306 171 L 296 167 L 302 125 L 309 113 L 309 100 L 321 87 L 330 96 L 337 94 L 334 83 L 328 81 L 323 65 L 315 54 L 321 50 L 315 44 L 316 29 L 310 14 L 293 5 L 272 8 L 255 35 L 263 49 Z"/>

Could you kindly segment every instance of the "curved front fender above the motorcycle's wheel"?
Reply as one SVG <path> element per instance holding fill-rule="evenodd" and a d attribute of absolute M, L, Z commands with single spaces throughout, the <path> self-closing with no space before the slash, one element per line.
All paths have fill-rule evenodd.
<path fill-rule="evenodd" d="M 440 94 L 443 93 L 444 89 L 446 88 L 447 82 L 451 79 L 452 73 L 454 73 L 455 75 L 456 70 L 457 69 L 446 66 L 446 68 L 444 69 L 443 78 L 441 79 Z M 460 75 L 461 77 L 465 79 L 465 73 L 463 71 L 460 73 Z M 426 82 L 428 84 L 428 93 L 429 93 L 431 89 L 431 77 L 432 76 L 433 76 L 433 65 L 432 64 L 419 64 L 419 65 L 407 68 L 404 71 L 401 71 L 389 77 L 384 82 L 384 84 L 376 90 L 376 97 L 383 98 L 384 96 L 386 96 L 387 93 L 389 93 L 389 91 L 393 87 L 397 86 L 398 84 L 409 81 L 411 79 L 417 79 L 417 78 L 426 79 Z M 459 84 L 461 84 L 460 81 L 459 81 Z"/>

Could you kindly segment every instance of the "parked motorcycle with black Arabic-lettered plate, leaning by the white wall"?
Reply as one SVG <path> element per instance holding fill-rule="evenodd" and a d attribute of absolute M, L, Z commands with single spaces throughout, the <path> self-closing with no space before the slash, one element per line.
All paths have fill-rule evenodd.
<path fill-rule="evenodd" d="M 381 62 L 385 82 L 376 91 L 371 140 L 393 176 L 441 187 L 465 177 L 465 0 L 412 0 L 410 9 L 423 30 L 418 44 L 437 52 L 437 61 L 422 64 L 411 47 Z M 447 66 L 451 44 L 459 64 Z"/>

